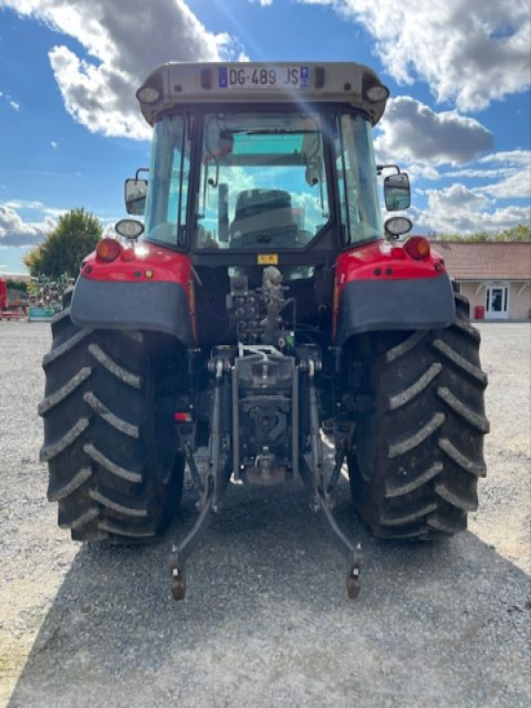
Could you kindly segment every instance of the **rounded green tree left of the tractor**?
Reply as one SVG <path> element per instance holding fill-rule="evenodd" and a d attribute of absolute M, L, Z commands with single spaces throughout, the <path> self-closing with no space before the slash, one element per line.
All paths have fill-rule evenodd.
<path fill-rule="evenodd" d="M 27 253 L 24 263 L 34 277 L 47 275 L 57 279 L 67 274 L 75 278 L 81 261 L 96 248 L 103 231 L 93 214 L 73 209 L 59 217 L 57 227 Z"/>

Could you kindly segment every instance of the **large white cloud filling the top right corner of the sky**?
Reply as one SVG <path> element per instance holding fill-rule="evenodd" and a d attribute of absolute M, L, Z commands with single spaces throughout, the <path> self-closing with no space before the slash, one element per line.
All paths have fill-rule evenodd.
<path fill-rule="evenodd" d="M 389 74 L 427 81 L 438 101 L 462 111 L 525 90 L 530 83 L 528 0 L 298 0 L 326 4 L 363 24 Z"/>

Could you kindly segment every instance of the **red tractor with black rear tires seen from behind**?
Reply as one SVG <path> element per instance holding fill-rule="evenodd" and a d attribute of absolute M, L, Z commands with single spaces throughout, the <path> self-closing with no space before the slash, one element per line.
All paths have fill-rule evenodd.
<path fill-rule="evenodd" d="M 299 475 L 351 597 L 343 465 L 377 536 L 446 539 L 477 508 L 480 335 L 427 239 L 382 224 L 379 175 L 388 211 L 410 204 L 407 175 L 373 157 L 388 96 L 357 64 L 166 64 L 137 92 L 154 139 L 126 204 L 144 223 L 99 242 L 52 323 L 41 458 L 59 526 L 112 543 L 163 533 L 188 465 L 199 514 L 170 559 L 178 599 L 230 481 Z"/>

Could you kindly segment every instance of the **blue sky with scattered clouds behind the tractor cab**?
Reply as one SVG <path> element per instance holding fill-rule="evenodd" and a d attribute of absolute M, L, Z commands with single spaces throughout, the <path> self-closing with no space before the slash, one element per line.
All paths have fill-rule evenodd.
<path fill-rule="evenodd" d="M 369 65 L 414 233 L 529 224 L 530 48 L 528 0 L 0 0 L 0 273 L 74 207 L 126 216 L 150 155 L 135 91 L 170 60 Z"/>

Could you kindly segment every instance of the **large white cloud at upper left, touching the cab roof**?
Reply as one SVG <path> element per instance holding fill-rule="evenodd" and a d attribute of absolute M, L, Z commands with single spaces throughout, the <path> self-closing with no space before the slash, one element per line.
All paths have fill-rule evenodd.
<path fill-rule="evenodd" d="M 49 56 L 67 111 L 93 133 L 149 138 L 135 91 L 150 71 L 170 60 L 242 53 L 230 36 L 207 30 L 185 0 L 0 0 L 0 7 L 40 19 L 87 51 L 80 58 L 58 45 Z"/>

